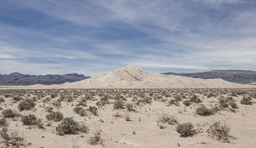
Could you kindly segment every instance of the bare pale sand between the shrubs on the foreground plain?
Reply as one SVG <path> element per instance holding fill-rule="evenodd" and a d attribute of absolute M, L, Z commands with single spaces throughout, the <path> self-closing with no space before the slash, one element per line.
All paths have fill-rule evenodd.
<path fill-rule="evenodd" d="M 202 104 L 205 104 L 206 107 L 217 104 L 217 97 L 207 98 L 206 96 L 201 96 L 200 98 L 203 100 Z M 9 129 L 18 129 L 20 132 L 24 132 L 25 139 L 32 143 L 28 148 L 72 148 L 73 140 L 75 143 L 77 141 L 77 145 L 80 145 L 80 148 L 101 148 L 102 145 L 89 145 L 87 143 L 94 129 L 93 123 L 99 125 L 100 119 L 104 121 L 101 123 L 101 138 L 104 139 L 103 145 L 106 148 L 178 148 L 178 143 L 181 148 L 256 148 L 256 104 L 243 105 L 239 103 L 242 96 L 233 98 L 237 101 L 239 107 L 237 112 L 222 110 L 210 116 L 198 116 L 195 114 L 195 109 L 199 104 L 185 107 L 186 111 L 179 113 L 178 108 L 184 107 L 182 101 L 177 107 L 174 105 L 166 106 L 168 101 L 153 100 L 152 104 L 135 105 L 136 111 L 131 112 L 131 121 L 125 121 L 124 117 L 114 118 L 113 114 L 115 112 L 119 111 L 123 114 L 124 110 L 113 110 L 113 104 L 102 106 L 99 108 L 99 115 L 91 115 L 89 119 L 74 113 L 72 103 L 77 104 L 76 101 L 72 103 L 63 101 L 58 111 L 61 111 L 64 117 L 72 117 L 75 121 L 85 122 L 90 129 L 87 134 L 57 135 L 55 127 L 60 122 L 54 122 L 50 127 L 45 126 L 45 129 L 38 129 L 36 127 L 28 129 L 28 126 L 22 125 L 21 121 L 11 121 Z M 96 99 L 99 99 L 99 96 Z M 131 101 L 131 99 L 127 97 L 127 101 Z M 9 104 L 12 104 L 11 102 L 13 101 L 12 98 L 5 98 L 5 100 L 4 103 L 1 103 L 1 108 L 4 110 L 9 108 L 17 110 L 18 103 L 10 106 Z M 113 102 L 114 100 L 110 101 Z M 256 101 L 256 99 L 252 101 Z M 96 101 L 88 101 L 87 105 L 96 106 L 95 103 Z M 40 107 L 42 105 L 43 103 L 39 100 L 35 107 L 36 110 L 22 111 L 20 113 L 22 115 L 34 114 L 37 118 L 46 120 L 45 115 L 48 112 L 43 107 Z M 46 104 L 46 106 L 49 105 Z M 179 123 L 192 122 L 195 125 L 196 123 L 204 123 L 212 119 L 225 120 L 231 126 L 230 134 L 237 139 L 231 140 L 231 143 L 223 143 L 207 137 L 206 132 L 191 137 L 180 137 L 175 131 L 176 125 L 169 125 L 168 123 L 163 123 L 166 128 L 160 129 L 157 127 L 156 120 L 161 112 L 161 108 L 165 112 L 175 115 L 179 119 Z M 57 111 L 57 108 L 55 107 L 53 111 Z M 141 119 L 140 121 L 139 118 Z M 133 134 L 133 131 L 136 134 Z"/>

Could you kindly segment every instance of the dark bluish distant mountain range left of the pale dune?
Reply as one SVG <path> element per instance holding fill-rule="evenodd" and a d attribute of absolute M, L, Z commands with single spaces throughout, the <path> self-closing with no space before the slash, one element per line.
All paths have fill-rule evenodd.
<path fill-rule="evenodd" d="M 11 74 L 0 74 L 0 85 L 52 85 L 63 84 L 66 82 L 77 82 L 83 79 L 87 79 L 83 74 L 48 74 L 48 75 L 29 75 L 14 72 Z"/>

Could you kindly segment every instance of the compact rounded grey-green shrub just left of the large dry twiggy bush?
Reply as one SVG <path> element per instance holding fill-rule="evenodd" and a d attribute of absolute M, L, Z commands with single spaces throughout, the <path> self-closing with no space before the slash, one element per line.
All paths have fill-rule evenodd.
<path fill-rule="evenodd" d="M 193 128 L 194 126 L 191 122 L 181 123 L 178 126 L 176 126 L 176 132 L 178 132 L 182 136 L 188 136 L 195 134 L 195 130 Z"/>

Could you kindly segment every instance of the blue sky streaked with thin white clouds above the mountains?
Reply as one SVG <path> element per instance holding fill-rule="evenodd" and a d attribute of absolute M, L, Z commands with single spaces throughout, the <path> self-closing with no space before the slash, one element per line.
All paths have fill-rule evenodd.
<path fill-rule="evenodd" d="M 256 71 L 256 0 L 0 0 L 0 74 Z"/>

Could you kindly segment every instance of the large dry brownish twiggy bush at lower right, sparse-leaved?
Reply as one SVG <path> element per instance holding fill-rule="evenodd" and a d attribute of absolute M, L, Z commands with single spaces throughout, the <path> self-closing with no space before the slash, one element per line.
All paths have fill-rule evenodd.
<path fill-rule="evenodd" d="M 235 139 L 229 134 L 231 128 L 224 121 L 220 122 L 212 120 L 211 122 L 206 123 L 206 125 L 209 126 L 209 128 L 206 130 L 206 133 L 212 139 L 228 143 L 231 139 Z"/>

